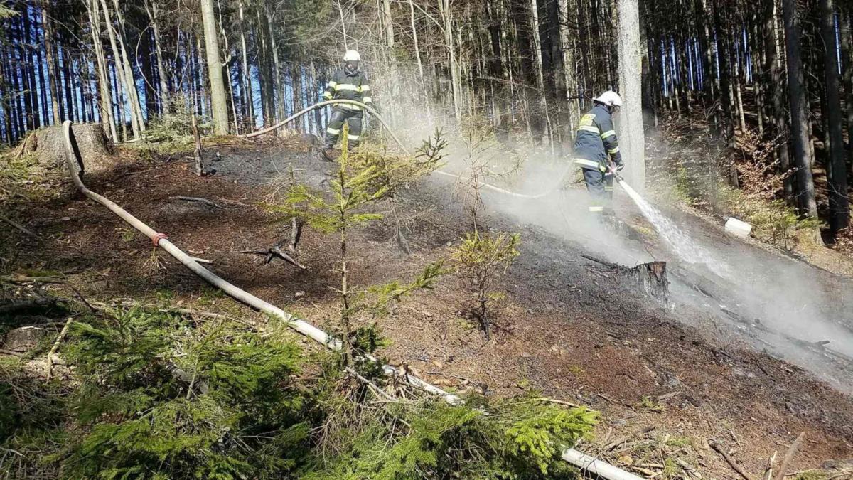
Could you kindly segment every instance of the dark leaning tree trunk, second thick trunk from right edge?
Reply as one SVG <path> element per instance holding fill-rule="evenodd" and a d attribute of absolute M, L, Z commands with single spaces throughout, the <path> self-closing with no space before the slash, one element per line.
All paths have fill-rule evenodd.
<path fill-rule="evenodd" d="M 806 116 L 803 59 L 800 52 L 800 26 L 797 0 L 782 0 L 785 22 L 786 57 L 788 61 L 788 97 L 791 102 L 791 137 L 794 164 L 797 167 L 797 200 L 800 214 L 817 218 L 815 182 L 811 165 L 814 160 L 809 148 L 809 120 Z"/>

